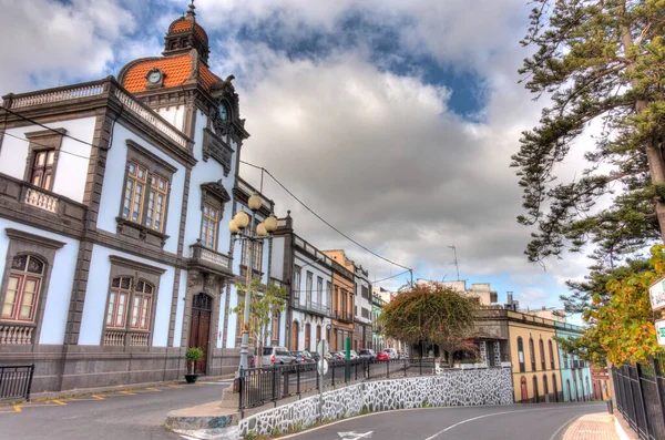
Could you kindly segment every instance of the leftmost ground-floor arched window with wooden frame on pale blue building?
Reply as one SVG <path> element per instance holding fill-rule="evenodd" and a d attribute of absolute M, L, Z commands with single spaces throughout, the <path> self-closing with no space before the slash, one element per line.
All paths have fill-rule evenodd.
<path fill-rule="evenodd" d="M 12 258 L 2 303 L 2 319 L 34 323 L 44 268 L 44 263 L 33 255 Z"/>

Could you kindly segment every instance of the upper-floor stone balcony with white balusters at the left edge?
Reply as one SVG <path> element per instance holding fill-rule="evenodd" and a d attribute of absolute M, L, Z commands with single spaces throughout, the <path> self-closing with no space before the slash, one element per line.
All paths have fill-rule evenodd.
<path fill-rule="evenodd" d="M 31 183 L 0 174 L 0 206 L 4 217 L 34 225 L 83 232 L 88 207 Z"/>

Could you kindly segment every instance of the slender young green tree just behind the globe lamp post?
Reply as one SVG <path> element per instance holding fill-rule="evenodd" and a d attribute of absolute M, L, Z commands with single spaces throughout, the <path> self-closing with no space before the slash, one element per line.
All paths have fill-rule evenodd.
<path fill-rule="evenodd" d="M 246 286 L 239 283 L 236 283 L 236 288 L 242 295 L 245 295 L 247 290 Z M 264 341 L 270 336 L 273 316 L 286 308 L 286 290 L 273 283 L 265 286 L 260 283 L 260 278 L 254 278 L 250 284 L 250 293 L 249 336 L 255 340 L 256 367 L 258 368 L 262 366 Z M 245 313 L 245 301 L 241 301 L 232 311 L 242 317 Z"/>

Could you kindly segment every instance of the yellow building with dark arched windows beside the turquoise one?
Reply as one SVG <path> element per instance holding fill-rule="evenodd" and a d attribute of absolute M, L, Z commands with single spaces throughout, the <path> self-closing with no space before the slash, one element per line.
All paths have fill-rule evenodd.
<path fill-rule="evenodd" d="M 555 321 L 505 310 L 515 402 L 561 401 Z"/>

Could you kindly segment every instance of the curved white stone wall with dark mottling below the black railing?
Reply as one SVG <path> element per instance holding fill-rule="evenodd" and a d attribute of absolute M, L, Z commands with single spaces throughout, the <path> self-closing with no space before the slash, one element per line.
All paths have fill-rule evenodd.
<path fill-rule="evenodd" d="M 323 395 L 323 420 L 354 417 L 365 411 L 422 407 L 510 405 L 513 391 L 510 368 L 444 370 L 439 376 L 377 380 L 351 385 Z M 319 396 L 309 397 L 239 422 L 241 436 L 300 430 L 319 421 Z"/>

